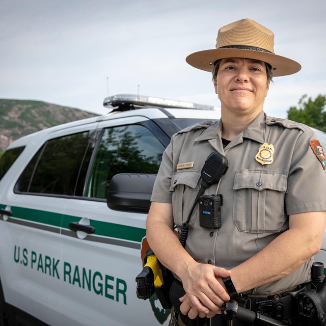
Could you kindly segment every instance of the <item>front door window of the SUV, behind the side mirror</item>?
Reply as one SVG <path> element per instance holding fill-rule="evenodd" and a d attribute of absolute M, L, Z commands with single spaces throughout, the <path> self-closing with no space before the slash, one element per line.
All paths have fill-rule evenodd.
<path fill-rule="evenodd" d="M 105 199 L 118 173 L 157 173 L 165 147 L 142 125 L 103 130 L 91 169 L 86 196 Z"/>

